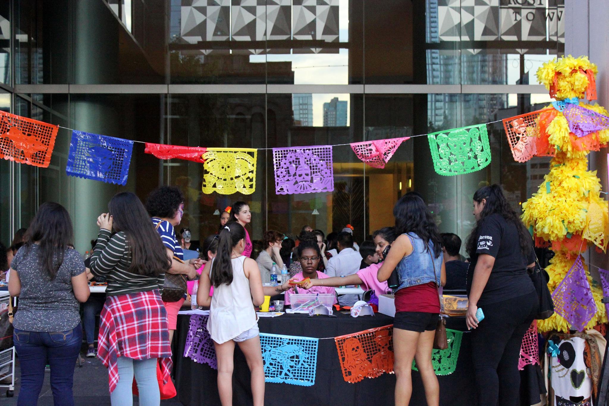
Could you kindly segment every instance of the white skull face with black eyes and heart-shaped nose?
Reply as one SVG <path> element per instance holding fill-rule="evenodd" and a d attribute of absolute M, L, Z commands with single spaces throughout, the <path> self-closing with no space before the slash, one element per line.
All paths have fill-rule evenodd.
<path fill-rule="evenodd" d="M 558 356 L 551 357 L 551 382 L 555 405 L 591 405 L 592 379 L 586 340 L 566 338 L 558 343 Z"/>

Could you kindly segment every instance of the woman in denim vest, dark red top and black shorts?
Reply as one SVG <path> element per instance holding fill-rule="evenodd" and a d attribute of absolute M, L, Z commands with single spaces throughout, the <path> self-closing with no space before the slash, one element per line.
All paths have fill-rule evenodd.
<path fill-rule="evenodd" d="M 440 387 L 431 363 L 435 327 L 440 313 L 437 282 L 446 283 L 442 240 L 429 209 L 418 194 L 407 193 L 393 208 L 395 234 L 379 282 L 395 269 L 400 285 L 395 292 L 393 353 L 395 404 L 407 405 L 412 394 L 412 359 L 417 361 L 428 405 L 440 402 Z"/>

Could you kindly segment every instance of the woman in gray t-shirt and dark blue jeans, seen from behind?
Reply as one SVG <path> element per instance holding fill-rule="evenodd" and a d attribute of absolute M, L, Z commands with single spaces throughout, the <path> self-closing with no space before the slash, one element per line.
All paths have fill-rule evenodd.
<path fill-rule="evenodd" d="M 19 404 L 35 405 L 51 367 L 55 404 L 73 405 L 74 364 L 82 342 L 79 301 L 89 297 L 85 264 L 72 243 L 68 211 L 44 203 L 10 267 L 9 293 L 19 296 L 13 341 L 21 363 Z"/>

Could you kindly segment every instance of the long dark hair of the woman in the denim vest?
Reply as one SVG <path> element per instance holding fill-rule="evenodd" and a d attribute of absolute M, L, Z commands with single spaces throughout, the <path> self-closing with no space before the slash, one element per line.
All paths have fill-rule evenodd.
<path fill-rule="evenodd" d="M 438 232 L 438 226 L 421 198 L 421 195 L 410 192 L 403 195 L 393 207 L 395 217 L 395 234 L 415 233 L 426 245 L 429 251 L 429 242 L 434 244 L 434 257 L 442 254 L 442 239 Z"/>

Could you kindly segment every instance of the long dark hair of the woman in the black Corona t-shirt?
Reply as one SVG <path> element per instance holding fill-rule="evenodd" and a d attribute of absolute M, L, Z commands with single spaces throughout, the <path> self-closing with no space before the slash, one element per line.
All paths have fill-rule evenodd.
<path fill-rule="evenodd" d="M 516 211 L 512 209 L 510 203 L 505 199 L 501 186 L 498 184 L 492 184 L 491 186 L 481 187 L 474 193 L 474 201 L 480 203 L 482 200 L 486 200 L 484 209 L 480 213 L 480 219 L 477 220 L 476 226 L 471 230 L 471 234 L 467 237 L 466 249 L 467 253 L 471 256 L 476 253 L 476 247 L 478 244 L 478 230 L 483 220 L 491 214 L 501 214 L 501 217 L 507 222 L 512 222 L 518 229 L 518 239 L 520 241 L 520 249 L 524 256 L 528 256 L 531 252 L 531 236 L 529 230 L 526 229 L 523 222 L 520 220 Z"/>

